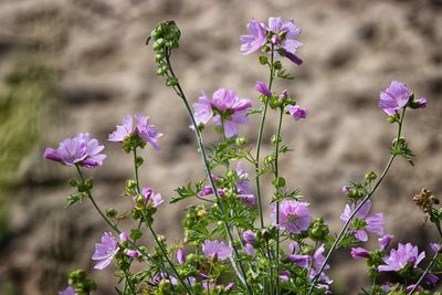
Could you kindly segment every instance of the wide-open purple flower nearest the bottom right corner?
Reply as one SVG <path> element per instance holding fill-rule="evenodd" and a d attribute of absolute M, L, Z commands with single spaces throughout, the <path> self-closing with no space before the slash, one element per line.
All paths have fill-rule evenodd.
<path fill-rule="evenodd" d="M 382 259 L 386 265 L 379 265 L 379 272 L 399 272 L 408 264 L 415 267 L 425 257 L 425 252 L 419 253 L 418 246 L 411 243 L 398 244 L 398 250 L 392 249 L 390 255 Z"/>

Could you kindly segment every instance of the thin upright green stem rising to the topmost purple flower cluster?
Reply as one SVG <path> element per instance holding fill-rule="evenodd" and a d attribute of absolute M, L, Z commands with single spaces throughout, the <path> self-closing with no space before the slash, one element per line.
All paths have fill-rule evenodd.
<path fill-rule="evenodd" d="M 270 89 L 270 91 L 272 91 L 272 84 L 273 84 L 273 78 L 274 78 L 273 62 L 274 62 L 274 48 L 273 48 L 273 45 L 272 45 L 271 62 L 270 62 L 270 64 L 269 64 L 269 67 L 270 67 L 269 89 Z M 257 131 L 256 155 L 255 155 L 256 199 L 257 199 L 257 210 L 259 210 L 259 213 L 260 213 L 260 224 L 261 224 L 261 229 L 264 228 L 264 214 L 263 214 L 263 209 L 262 209 L 260 176 L 257 175 L 257 172 L 259 172 L 259 170 L 260 170 L 261 143 L 262 143 L 262 136 L 263 136 L 263 130 L 264 130 L 264 124 L 265 124 L 265 117 L 266 117 L 266 114 L 267 114 L 267 108 L 269 108 L 269 97 L 266 97 L 266 99 L 265 99 L 264 109 L 262 110 L 262 114 L 261 114 L 261 123 L 260 123 L 260 130 Z"/>

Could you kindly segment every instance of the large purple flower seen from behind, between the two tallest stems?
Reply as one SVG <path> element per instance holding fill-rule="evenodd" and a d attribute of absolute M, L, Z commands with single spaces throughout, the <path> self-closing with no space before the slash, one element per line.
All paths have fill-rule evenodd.
<path fill-rule="evenodd" d="M 211 118 L 224 128 L 225 137 L 238 135 L 238 124 L 248 123 L 246 113 L 252 102 L 240 98 L 231 89 L 220 88 L 212 94 L 212 98 L 203 93 L 198 103 L 193 104 L 194 119 L 197 125 L 207 124 Z"/>

